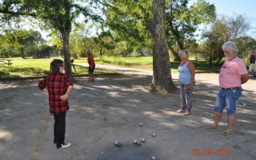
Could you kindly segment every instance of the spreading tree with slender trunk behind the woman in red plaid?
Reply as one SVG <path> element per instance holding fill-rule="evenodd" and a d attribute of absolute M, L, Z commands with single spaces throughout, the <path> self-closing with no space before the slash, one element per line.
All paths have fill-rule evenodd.
<path fill-rule="evenodd" d="M 0 13 L 3 13 L 1 17 L 7 20 L 9 17 L 17 19 L 20 16 L 35 17 L 42 22 L 44 29 L 52 29 L 60 33 L 63 43 L 65 72 L 69 77 L 72 77 L 69 46 L 72 24 L 81 14 L 84 15 L 85 20 L 91 19 L 102 22 L 101 15 L 95 13 L 95 10 L 104 7 L 105 4 L 100 0 L 3 0 L 3 3 L 0 4 Z"/>

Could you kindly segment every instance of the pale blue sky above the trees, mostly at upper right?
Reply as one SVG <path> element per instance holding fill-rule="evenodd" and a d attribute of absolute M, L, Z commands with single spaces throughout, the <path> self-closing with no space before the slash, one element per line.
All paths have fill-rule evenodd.
<path fill-rule="evenodd" d="M 197 0 L 189 1 L 189 4 Z M 249 33 L 250 36 L 256 38 L 256 0 L 205 0 L 216 7 L 217 15 L 232 16 L 234 14 L 245 15 L 250 20 L 251 26 L 254 28 Z M 46 38 L 46 33 L 40 31 L 42 36 Z"/>

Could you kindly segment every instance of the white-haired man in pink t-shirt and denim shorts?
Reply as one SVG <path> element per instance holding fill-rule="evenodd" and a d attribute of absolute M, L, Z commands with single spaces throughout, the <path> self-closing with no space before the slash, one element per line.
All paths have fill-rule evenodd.
<path fill-rule="evenodd" d="M 220 92 L 214 106 L 214 123 L 210 127 L 205 127 L 205 131 L 218 129 L 218 124 L 222 116 L 223 109 L 227 106 L 228 127 L 220 133 L 220 136 L 232 136 L 232 128 L 236 122 L 236 105 L 241 96 L 241 84 L 248 81 L 248 71 L 240 58 L 237 57 L 238 49 L 234 42 L 225 42 L 222 45 L 226 56 L 225 63 L 220 70 Z"/>

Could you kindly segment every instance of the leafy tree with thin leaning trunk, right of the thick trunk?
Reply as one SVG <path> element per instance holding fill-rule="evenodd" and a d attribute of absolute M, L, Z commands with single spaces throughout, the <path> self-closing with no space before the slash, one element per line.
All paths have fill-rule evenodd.
<path fill-rule="evenodd" d="M 173 45 L 178 45 L 179 50 L 184 49 L 184 43 L 195 40 L 195 31 L 202 23 L 215 19 L 214 4 L 198 0 L 188 6 L 189 0 L 168 0 L 166 7 L 166 33 L 168 47 L 174 55 L 174 60 L 179 60 L 178 52 Z"/>

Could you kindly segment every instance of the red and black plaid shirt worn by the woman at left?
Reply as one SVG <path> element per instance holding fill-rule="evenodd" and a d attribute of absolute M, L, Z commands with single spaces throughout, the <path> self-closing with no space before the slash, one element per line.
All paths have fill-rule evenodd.
<path fill-rule="evenodd" d="M 52 72 L 38 83 L 40 90 L 44 90 L 47 86 L 51 114 L 59 115 L 60 112 L 69 109 L 68 100 L 63 101 L 60 97 L 65 95 L 70 85 L 73 86 L 67 74 L 61 74 L 61 72 Z"/>

